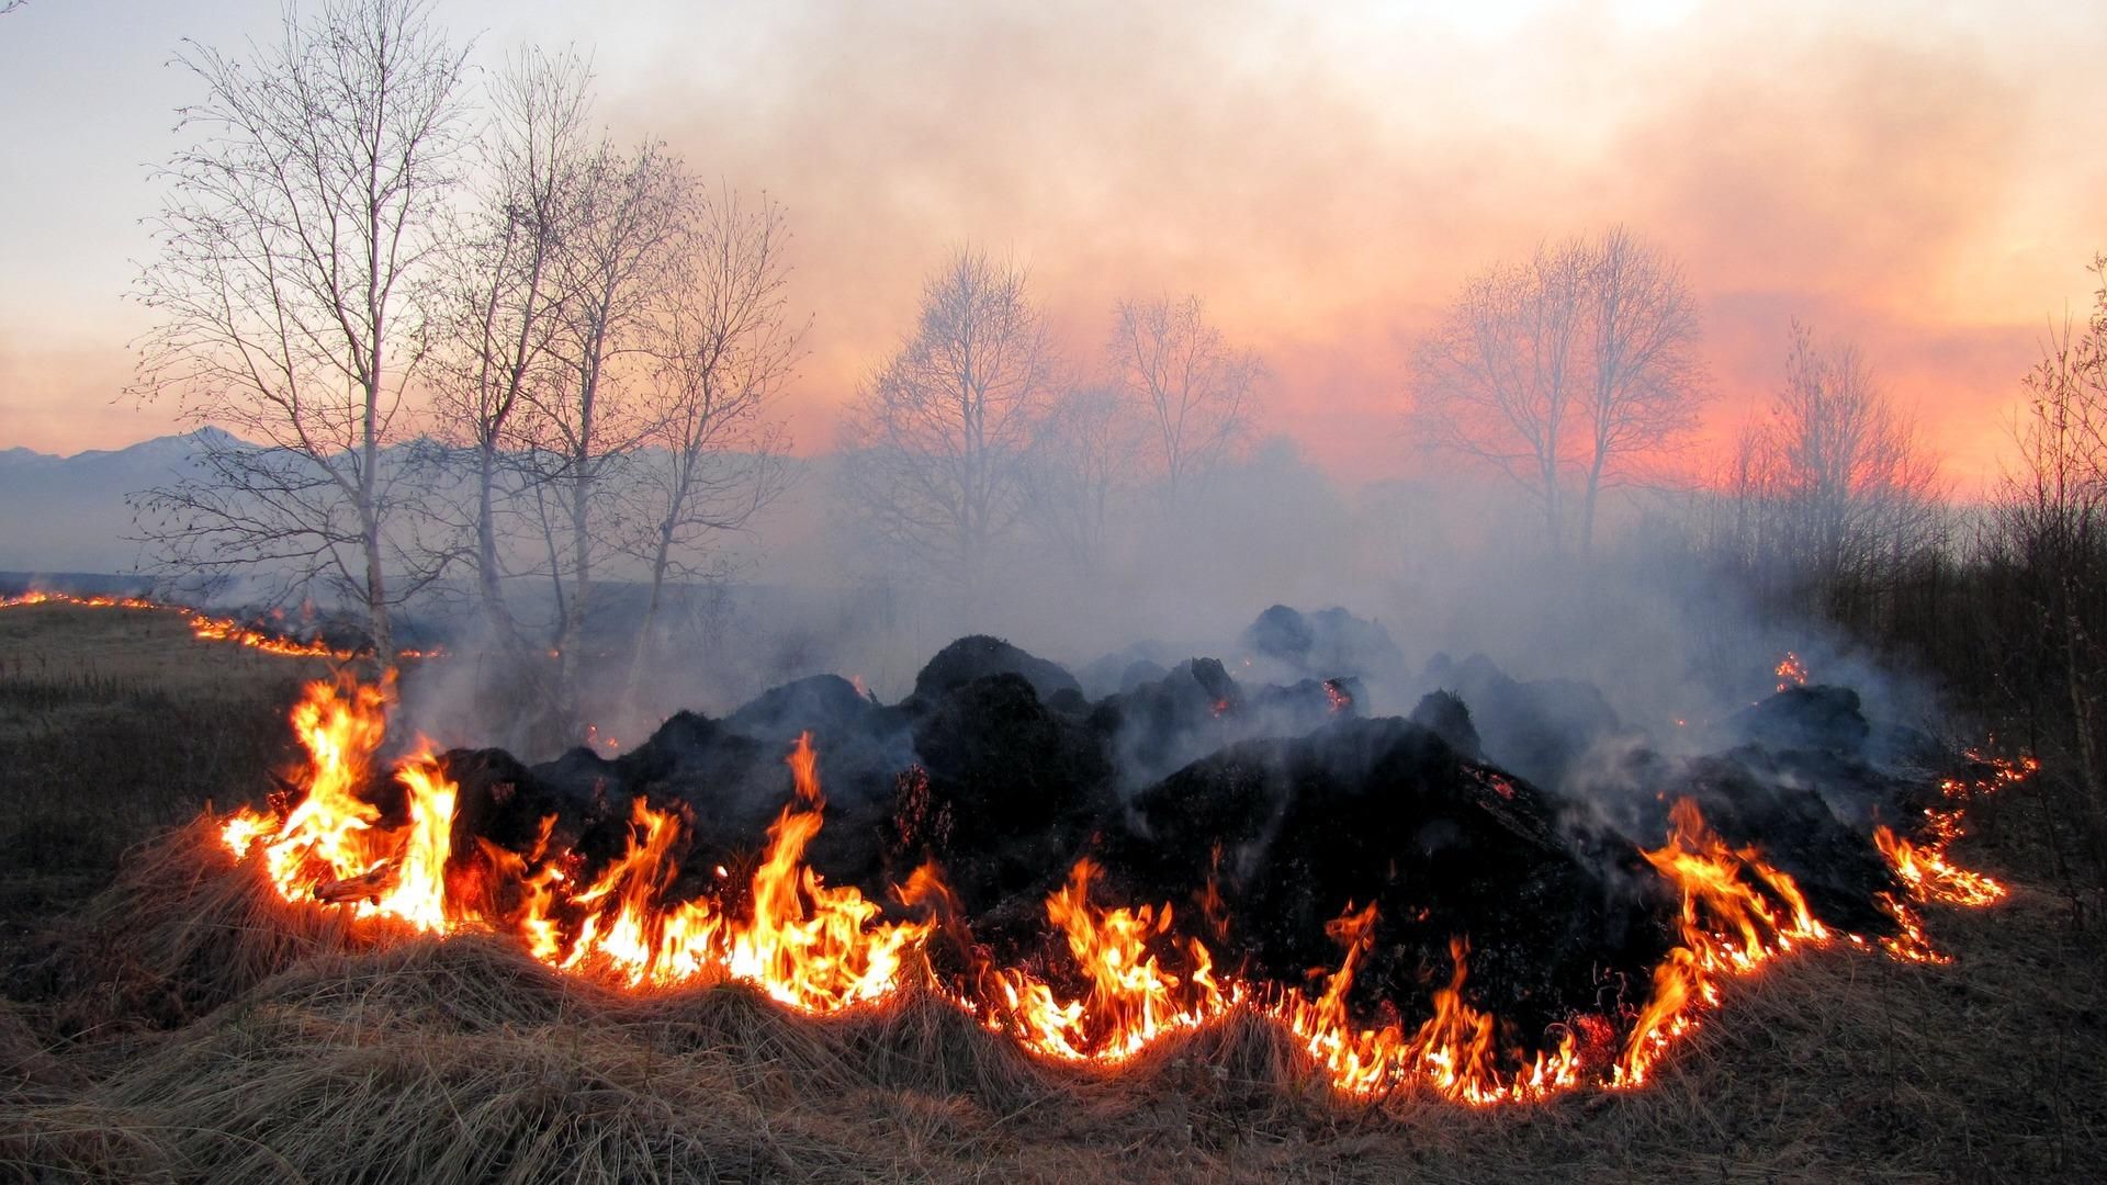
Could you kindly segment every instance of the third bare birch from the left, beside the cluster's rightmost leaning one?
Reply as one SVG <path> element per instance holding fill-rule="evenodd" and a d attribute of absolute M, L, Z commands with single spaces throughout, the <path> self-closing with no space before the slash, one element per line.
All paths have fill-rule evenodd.
<path fill-rule="evenodd" d="M 560 382 L 529 392 L 531 498 L 556 592 L 558 713 L 575 719 L 579 637 L 603 542 L 622 536 L 615 477 L 643 445 L 636 394 L 653 316 L 674 276 L 678 228 L 693 186 L 657 143 L 632 154 L 600 145 L 586 167 L 579 217 L 560 253 L 563 325 L 552 346 Z"/>

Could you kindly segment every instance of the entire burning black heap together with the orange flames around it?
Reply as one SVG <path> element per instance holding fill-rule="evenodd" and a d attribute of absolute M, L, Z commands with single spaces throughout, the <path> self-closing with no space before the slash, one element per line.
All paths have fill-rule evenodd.
<path fill-rule="evenodd" d="M 923 991 L 1085 1069 L 1252 1016 L 1344 1096 L 1530 1103 L 1643 1086 L 1799 951 L 1945 961 L 1922 907 L 2006 896 L 1947 850 L 2029 757 L 1941 753 L 1791 654 L 1776 679 L 1717 751 L 1635 746 L 1582 812 L 1490 761 L 1452 692 L 1372 719 L 1351 677 L 1205 658 L 1087 700 L 971 637 L 898 704 L 809 677 L 537 765 L 398 736 L 396 673 L 339 675 L 291 713 L 301 768 L 204 827 L 221 875 L 362 945 L 497 936 L 613 991 L 733 980 L 803 1014 Z"/>

